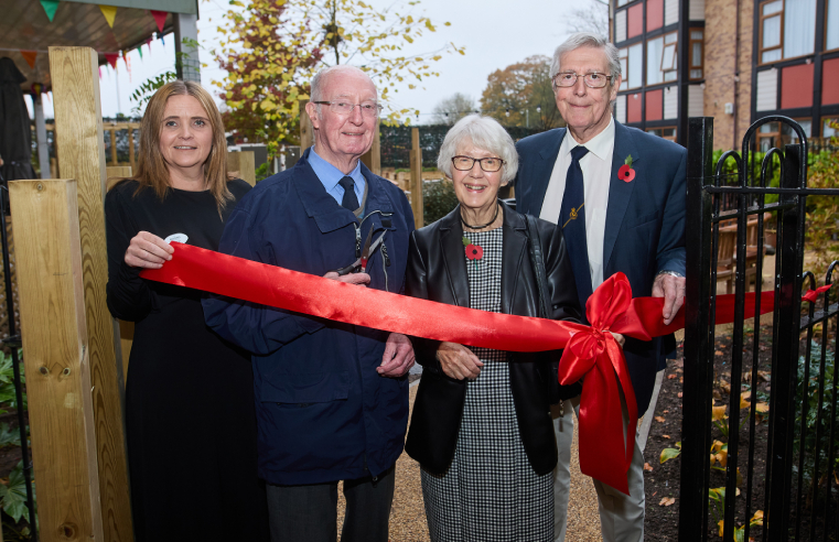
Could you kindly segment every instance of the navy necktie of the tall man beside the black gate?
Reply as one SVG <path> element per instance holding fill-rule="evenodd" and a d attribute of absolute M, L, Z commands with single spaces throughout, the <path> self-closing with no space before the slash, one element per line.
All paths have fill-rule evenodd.
<path fill-rule="evenodd" d="M 559 212 L 559 226 L 566 238 L 568 256 L 574 271 L 577 293 L 580 305 L 585 312 L 585 302 L 592 293 L 591 270 L 589 269 L 589 245 L 585 239 L 585 191 L 582 182 L 582 159 L 589 150 L 582 145 L 571 149 L 571 165 L 566 176 L 566 192 L 562 195 L 562 207 Z"/>

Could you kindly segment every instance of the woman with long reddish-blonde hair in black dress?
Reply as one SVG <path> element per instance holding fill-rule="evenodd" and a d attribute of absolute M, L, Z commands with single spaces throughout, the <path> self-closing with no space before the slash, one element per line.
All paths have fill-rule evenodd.
<path fill-rule="evenodd" d="M 206 327 L 201 292 L 140 278 L 173 258 L 169 240 L 217 250 L 250 187 L 227 178 L 222 117 L 197 84 L 158 90 L 140 138 L 137 174 L 105 200 L 108 307 L 137 323 L 126 380 L 137 540 L 267 540 L 249 356 Z"/>

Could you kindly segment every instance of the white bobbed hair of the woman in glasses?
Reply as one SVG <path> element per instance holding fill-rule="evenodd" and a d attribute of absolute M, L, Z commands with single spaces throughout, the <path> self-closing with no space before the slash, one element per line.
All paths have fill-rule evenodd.
<path fill-rule="evenodd" d="M 443 144 L 440 147 L 440 155 L 437 158 L 438 170 L 452 178 L 452 159 L 458 148 L 464 143 L 496 154 L 504 161 L 502 166 L 502 185 L 513 181 L 518 171 L 518 153 L 513 138 L 497 120 L 481 115 L 469 115 L 460 119 L 445 134 Z"/>

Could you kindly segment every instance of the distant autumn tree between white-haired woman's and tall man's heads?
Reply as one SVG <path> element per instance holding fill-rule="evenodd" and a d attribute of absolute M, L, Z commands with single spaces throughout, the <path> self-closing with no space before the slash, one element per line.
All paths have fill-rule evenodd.
<path fill-rule="evenodd" d="M 550 82 L 550 58 L 528 56 L 496 69 L 481 96 L 481 109 L 504 126 L 550 130 L 563 126 Z"/>

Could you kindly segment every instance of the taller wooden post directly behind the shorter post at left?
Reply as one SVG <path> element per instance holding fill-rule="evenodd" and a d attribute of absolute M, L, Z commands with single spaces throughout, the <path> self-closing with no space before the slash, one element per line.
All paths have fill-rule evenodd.
<path fill-rule="evenodd" d="M 88 47 L 50 47 L 50 72 L 61 172 L 65 177 L 75 178 L 78 189 L 78 232 L 84 262 L 84 310 L 92 383 L 86 390 L 90 390 L 95 405 L 93 419 L 88 421 L 95 421 L 101 517 L 105 518 L 105 538 L 99 540 L 132 541 L 122 415 L 125 384 L 117 353 L 119 332 L 105 300 L 108 282 L 105 148 L 97 54 Z"/>

